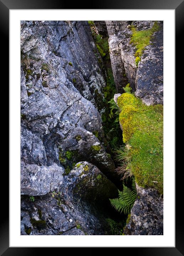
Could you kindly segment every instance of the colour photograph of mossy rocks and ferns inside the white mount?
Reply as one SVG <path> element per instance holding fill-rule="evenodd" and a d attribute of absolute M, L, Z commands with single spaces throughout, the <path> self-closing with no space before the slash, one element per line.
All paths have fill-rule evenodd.
<path fill-rule="evenodd" d="M 21 236 L 164 235 L 163 26 L 21 20 Z"/>

